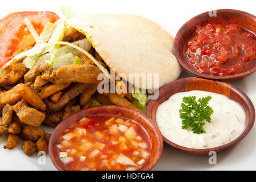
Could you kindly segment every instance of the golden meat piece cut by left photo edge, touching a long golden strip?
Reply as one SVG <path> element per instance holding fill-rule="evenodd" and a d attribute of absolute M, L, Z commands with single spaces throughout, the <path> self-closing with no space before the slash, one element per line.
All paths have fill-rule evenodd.
<path fill-rule="evenodd" d="M 0 104 L 2 105 L 6 105 L 6 104 L 14 105 L 21 99 L 22 97 L 20 97 L 19 94 L 16 93 L 16 90 L 14 89 L 0 93 Z"/>

